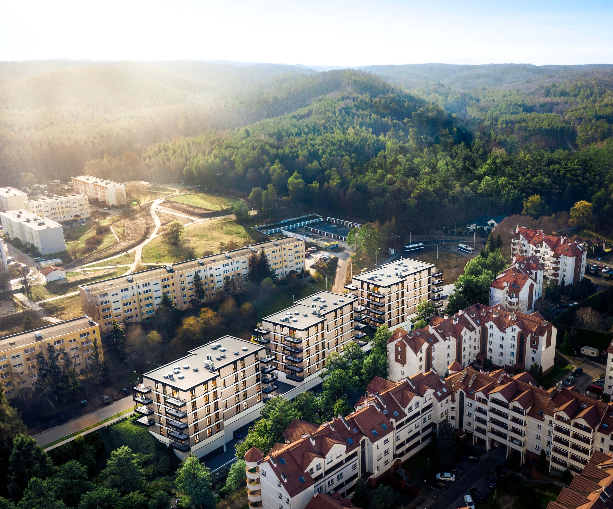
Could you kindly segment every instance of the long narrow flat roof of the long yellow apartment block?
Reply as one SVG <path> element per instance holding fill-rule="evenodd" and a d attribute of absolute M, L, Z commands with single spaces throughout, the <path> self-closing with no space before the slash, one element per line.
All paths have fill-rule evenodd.
<path fill-rule="evenodd" d="M 148 281 L 152 277 L 155 277 L 156 271 L 159 272 L 162 277 L 164 274 L 168 273 L 176 273 L 182 271 L 189 271 L 193 269 L 197 269 L 199 267 L 206 267 L 207 265 L 211 265 L 213 263 L 217 264 L 220 262 L 226 262 L 227 260 L 234 260 L 234 258 L 244 257 L 245 255 L 253 255 L 259 254 L 259 252 L 263 249 L 272 249 L 275 246 L 287 246 L 287 244 L 294 244 L 296 242 L 302 242 L 293 237 L 283 237 L 277 240 L 268 240 L 266 242 L 261 242 L 259 244 L 251 244 L 251 246 L 239 247 L 238 249 L 234 249 L 232 251 L 227 251 L 225 253 L 216 253 L 213 255 L 208 255 L 202 258 L 194 258 L 193 260 L 185 260 L 185 262 L 177 262 L 177 263 L 165 263 L 163 265 L 158 265 L 156 267 L 134 272 L 132 274 L 128 274 L 127 276 L 117 276 L 111 277 L 109 279 L 102 279 L 102 281 L 96 281 L 93 283 L 89 283 L 86 285 L 79 285 L 80 288 L 85 290 L 89 290 L 90 292 L 100 290 L 101 288 L 109 287 L 109 282 L 124 280 L 128 282 L 128 277 L 132 277 L 131 282 L 140 282 L 140 281 Z M 253 247 L 253 249 L 251 249 Z M 226 256 L 229 255 L 229 256 Z M 202 263 L 200 263 L 202 262 Z M 172 269 L 169 271 L 166 267 L 171 267 Z"/>

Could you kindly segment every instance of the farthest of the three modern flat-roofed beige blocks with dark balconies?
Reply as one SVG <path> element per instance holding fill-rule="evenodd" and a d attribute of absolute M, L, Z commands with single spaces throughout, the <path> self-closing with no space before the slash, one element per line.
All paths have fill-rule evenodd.
<path fill-rule="evenodd" d="M 443 273 L 432 263 L 411 258 L 386 263 L 378 269 L 351 278 L 345 288 L 359 298 L 356 312 L 371 328 L 405 326 L 415 314 L 417 304 L 432 301 L 441 307 Z"/>

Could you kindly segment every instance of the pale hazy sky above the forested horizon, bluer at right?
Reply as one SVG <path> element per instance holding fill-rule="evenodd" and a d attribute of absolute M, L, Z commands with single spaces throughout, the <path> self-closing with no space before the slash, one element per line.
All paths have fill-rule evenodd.
<path fill-rule="evenodd" d="M 0 0 L 0 61 L 613 62 L 611 1 Z"/>

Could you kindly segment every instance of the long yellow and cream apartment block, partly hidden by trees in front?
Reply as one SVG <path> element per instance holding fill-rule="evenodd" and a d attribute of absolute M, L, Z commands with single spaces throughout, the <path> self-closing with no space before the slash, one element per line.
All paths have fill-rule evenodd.
<path fill-rule="evenodd" d="M 167 293 L 178 309 L 186 309 L 200 302 L 194 292 L 196 274 L 202 278 L 204 300 L 211 300 L 219 296 L 224 284 L 231 279 L 238 285 L 244 284 L 255 255 L 262 249 L 279 279 L 304 266 L 304 242 L 281 238 L 81 285 L 81 304 L 86 313 L 101 323 L 102 330 L 109 330 L 113 320 L 120 324 L 148 320 L 158 308 L 162 293 Z"/>

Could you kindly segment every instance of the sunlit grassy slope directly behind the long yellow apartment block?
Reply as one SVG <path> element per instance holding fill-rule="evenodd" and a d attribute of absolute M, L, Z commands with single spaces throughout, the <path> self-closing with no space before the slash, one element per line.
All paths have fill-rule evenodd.
<path fill-rule="evenodd" d="M 202 221 L 185 227 L 178 246 L 167 244 L 161 236 L 153 239 L 143 249 L 143 263 L 174 263 L 200 257 L 205 251 L 226 251 L 230 243 L 242 247 L 253 243 L 249 228 L 239 225 L 230 217 Z"/>

